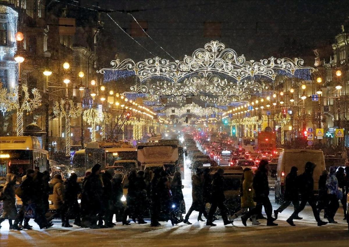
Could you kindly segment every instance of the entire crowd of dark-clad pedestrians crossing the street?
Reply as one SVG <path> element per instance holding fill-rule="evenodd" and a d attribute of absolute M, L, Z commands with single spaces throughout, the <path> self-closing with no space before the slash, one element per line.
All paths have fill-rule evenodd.
<path fill-rule="evenodd" d="M 192 175 L 192 205 L 186 213 L 186 205 L 182 189 L 181 174 L 175 172 L 171 177 L 161 168 L 144 171 L 130 171 L 125 177 L 115 173 L 114 169 L 107 169 L 101 174 L 102 167 L 96 164 L 86 172 L 82 187 L 77 182 L 77 175 L 72 173 L 67 180 L 62 180 L 60 174 L 55 174 L 50 181 L 48 172 L 28 169 L 21 178 L 21 184 L 16 188 L 18 178 L 9 170 L 6 184 L 2 190 L 3 214 L 0 223 L 8 220 L 10 229 L 22 230 L 32 228 L 29 219 L 33 218 L 40 229 L 53 225 L 53 218 L 61 218 L 62 227 L 72 227 L 69 219 L 74 219 L 74 225 L 91 229 L 107 228 L 113 223 L 115 215 L 117 222 L 130 225 L 131 220 L 138 224 L 147 224 L 144 218 L 150 215 L 150 226 L 159 226 L 161 221 L 174 224 L 185 223 L 191 225 L 189 217 L 195 210 L 199 212 L 198 221 L 205 221 L 207 226 L 216 226 L 214 221 L 217 208 L 223 219 L 223 224 L 233 224 L 241 217 L 243 225 L 247 225 L 250 218 L 252 225 L 261 224 L 258 219 L 267 219 L 268 226 L 277 226 L 274 221 L 291 203 L 294 212 L 287 222 L 295 226 L 294 219 L 302 219 L 299 213 L 306 203 L 312 208 L 313 215 L 319 226 L 327 223 L 336 224 L 334 216 L 339 209 L 339 201 L 343 205 L 344 219 L 346 218 L 346 194 L 349 192 L 349 167 L 331 167 L 324 171 L 319 179 L 318 203 L 314 195 L 315 164 L 307 162 L 302 174 L 297 174 L 297 167 L 292 167 L 285 179 L 285 193 L 283 203 L 274 210 L 269 200 L 268 162 L 262 160 L 255 174 L 251 169 L 244 170 L 240 182 L 241 208 L 230 212 L 225 206 L 224 170 L 218 168 L 211 175 L 210 169 L 197 169 Z M 127 188 L 126 198 L 123 189 Z M 53 192 L 55 213 L 49 211 L 49 194 Z M 22 206 L 17 212 L 15 195 L 22 200 Z M 300 195 L 300 196 L 299 196 Z M 78 199 L 81 199 L 79 205 Z M 124 203 L 126 201 L 126 203 Z M 300 201 L 300 203 L 299 203 Z M 207 213 L 206 205 L 210 204 Z M 266 218 L 262 215 L 265 209 Z M 320 213 L 324 210 L 324 218 Z M 14 220 L 14 222 L 12 222 Z M 0 226 L 1 227 L 1 226 Z"/>

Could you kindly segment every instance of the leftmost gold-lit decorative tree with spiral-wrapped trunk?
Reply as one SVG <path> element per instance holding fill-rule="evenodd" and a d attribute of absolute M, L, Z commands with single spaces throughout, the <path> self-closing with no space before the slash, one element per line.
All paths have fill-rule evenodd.
<path fill-rule="evenodd" d="M 16 110 L 16 133 L 17 136 L 23 136 L 23 112 L 32 112 L 41 104 L 41 95 L 39 90 L 33 88 L 31 93 L 33 96 L 29 95 L 28 87 L 26 85 L 22 86 L 23 98 L 21 102 L 18 98 L 18 86 L 10 88 L 7 92 L 7 88 L 0 89 L 0 102 L 2 108 L 6 111 Z"/>

